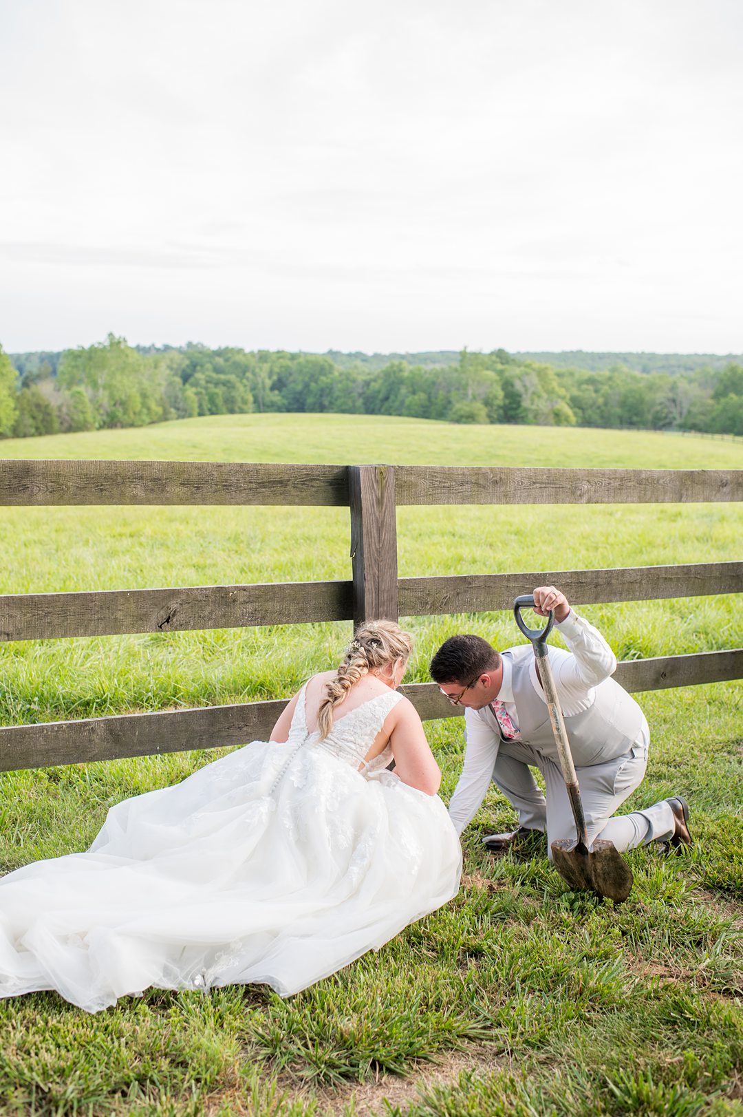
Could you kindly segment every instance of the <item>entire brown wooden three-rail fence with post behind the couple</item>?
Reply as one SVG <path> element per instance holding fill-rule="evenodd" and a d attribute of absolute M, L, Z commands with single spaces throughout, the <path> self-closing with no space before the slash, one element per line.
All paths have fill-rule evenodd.
<path fill-rule="evenodd" d="M 299 466 L 202 461 L 0 462 L 0 505 L 316 505 L 351 510 L 352 580 L 0 595 L 0 640 L 358 622 L 509 609 L 555 583 L 577 605 L 739 593 L 743 563 L 398 577 L 399 505 L 743 499 L 743 470 Z M 743 649 L 619 663 L 628 690 L 743 677 Z M 422 718 L 461 716 L 434 684 L 402 688 Z M 0 728 L 0 771 L 265 739 L 284 701 Z"/>

